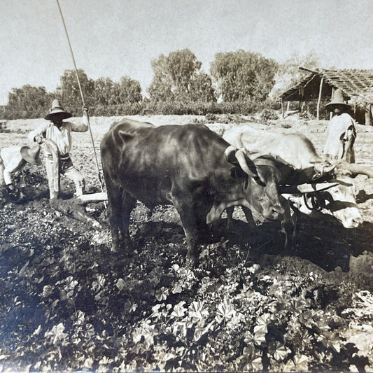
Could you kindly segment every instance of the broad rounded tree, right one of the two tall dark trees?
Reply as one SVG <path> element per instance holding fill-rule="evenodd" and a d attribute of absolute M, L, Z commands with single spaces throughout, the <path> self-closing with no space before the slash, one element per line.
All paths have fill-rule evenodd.
<path fill-rule="evenodd" d="M 216 53 L 211 75 L 223 101 L 263 101 L 272 90 L 276 69 L 273 59 L 237 50 Z"/>

